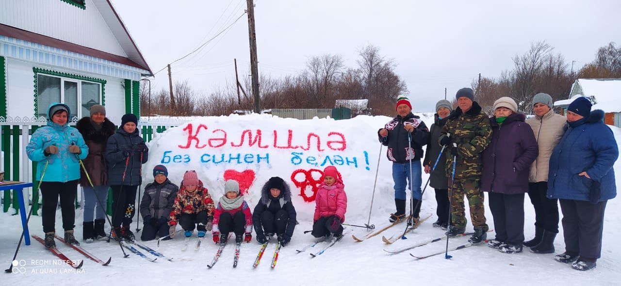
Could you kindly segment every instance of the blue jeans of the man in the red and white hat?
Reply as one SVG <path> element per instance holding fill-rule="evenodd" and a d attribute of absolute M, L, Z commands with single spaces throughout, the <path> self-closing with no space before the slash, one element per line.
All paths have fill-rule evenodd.
<path fill-rule="evenodd" d="M 394 198 L 406 199 L 406 186 L 412 191 L 412 198 L 420 200 L 422 184 L 422 169 L 420 160 L 412 161 L 412 177 L 410 178 L 410 163 L 392 163 L 392 181 L 394 181 Z M 407 182 L 406 182 L 407 180 Z M 412 185 L 408 184 L 412 183 Z M 412 189 L 414 187 L 414 189 Z"/>

